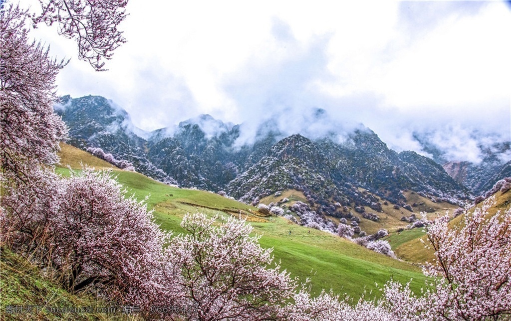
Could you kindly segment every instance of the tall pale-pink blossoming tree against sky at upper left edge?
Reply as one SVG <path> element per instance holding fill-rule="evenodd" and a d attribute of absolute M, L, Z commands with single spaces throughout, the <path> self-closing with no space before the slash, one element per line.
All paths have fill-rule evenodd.
<path fill-rule="evenodd" d="M 27 14 L 17 6 L 0 13 L 2 177 L 18 183 L 32 167 L 57 161 L 67 131 L 53 112 L 55 77 L 65 63 L 29 39 Z"/>

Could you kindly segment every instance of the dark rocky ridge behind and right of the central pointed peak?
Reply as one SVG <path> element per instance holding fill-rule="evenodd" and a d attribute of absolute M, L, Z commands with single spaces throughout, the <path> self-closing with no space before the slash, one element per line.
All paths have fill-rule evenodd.
<path fill-rule="evenodd" d="M 405 189 L 430 197 L 455 195 L 453 202 L 469 196 L 468 190 L 434 161 L 414 152 L 398 154 L 389 150 L 370 130 L 356 130 L 342 143 L 321 139 L 318 146 L 327 151 L 328 158 L 344 176 L 393 203 L 406 201 L 401 192 Z"/>

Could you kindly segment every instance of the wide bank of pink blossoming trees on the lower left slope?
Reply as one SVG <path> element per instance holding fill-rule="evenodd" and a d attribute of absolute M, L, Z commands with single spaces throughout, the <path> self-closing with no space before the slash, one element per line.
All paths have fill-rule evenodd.
<path fill-rule="evenodd" d="M 62 178 L 41 170 L 38 178 L 3 200 L 3 245 L 29 255 L 71 292 L 144 305 L 163 295 L 158 262 L 168 235 L 143 203 L 126 198 L 109 172 Z"/>

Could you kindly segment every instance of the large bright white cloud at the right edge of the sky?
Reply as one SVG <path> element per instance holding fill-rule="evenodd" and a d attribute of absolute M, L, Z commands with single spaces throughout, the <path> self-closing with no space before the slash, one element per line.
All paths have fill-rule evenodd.
<path fill-rule="evenodd" d="M 451 16 L 385 65 L 375 89 L 401 109 L 460 109 L 509 103 L 509 13 L 487 6 L 477 16 Z M 486 108 L 501 109 L 499 104 Z"/>

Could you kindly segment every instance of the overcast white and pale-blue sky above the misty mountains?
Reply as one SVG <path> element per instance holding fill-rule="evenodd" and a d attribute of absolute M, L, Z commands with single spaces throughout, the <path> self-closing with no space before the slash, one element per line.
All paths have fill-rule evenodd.
<path fill-rule="evenodd" d="M 420 151 L 414 131 L 452 159 L 477 160 L 476 130 L 511 139 L 504 2 L 131 0 L 127 12 L 106 72 L 37 32 L 72 58 L 60 94 L 105 96 L 144 130 L 207 113 L 247 128 L 274 117 L 293 133 L 323 108 L 318 131 L 361 122 L 398 151 Z"/>

